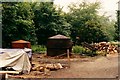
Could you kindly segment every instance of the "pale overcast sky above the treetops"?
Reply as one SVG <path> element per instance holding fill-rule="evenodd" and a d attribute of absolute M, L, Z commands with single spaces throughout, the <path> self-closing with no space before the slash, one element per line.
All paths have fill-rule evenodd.
<path fill-rule="evenodd" d="M 67 6 L 71 3 L 80 3 L 83 0 L 54 0 L 54 4 L 62 7 L 63 11 L 67 11 Z M 89 2 L 99 1 L 101 3 L 100 14 L 106 13 L 107 16 L 111 16 L 111 19 L 116 19 L 116 10 L 118 10 L 119 0 L 84 0 Z"/>

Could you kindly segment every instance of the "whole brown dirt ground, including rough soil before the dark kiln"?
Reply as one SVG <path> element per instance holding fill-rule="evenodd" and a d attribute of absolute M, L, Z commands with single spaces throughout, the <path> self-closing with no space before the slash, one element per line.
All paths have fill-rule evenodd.
<path fill-rule="evenodd" d="M 118 54 L 107 56 L 82 57 L 72 55 L 70 63 L 67 57 L 52 58 L 45 54 L 33 54 L 32 64 L 61 63 L 64 68 L 59 70 L 32 71 L 29 74 L 12 75 L 10 78 L 117 78 L 118 77 Z M 69 65 L 70 64 L 70 65 Z"/>

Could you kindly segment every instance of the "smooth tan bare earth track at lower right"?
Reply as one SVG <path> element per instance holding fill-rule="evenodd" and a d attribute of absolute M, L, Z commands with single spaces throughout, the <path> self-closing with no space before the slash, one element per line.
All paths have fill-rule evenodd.
<path fill-rule="evenodd" d="M 71 62 L 70 68 L 52 73 L 50 78 L 116 78 L 117 57 L 100 57 L 92 62 Z"/>

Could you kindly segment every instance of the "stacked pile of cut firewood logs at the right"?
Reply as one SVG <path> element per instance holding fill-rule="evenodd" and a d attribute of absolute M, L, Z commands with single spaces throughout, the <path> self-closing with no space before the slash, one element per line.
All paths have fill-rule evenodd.
<path fill-rule="evenodd" d="M 93 44 L 94 48 L 98 51 L 105 51 L 107 54 L 118 53 L 117 46 L 110 44 L 109 42 L 100 42 Z"/>

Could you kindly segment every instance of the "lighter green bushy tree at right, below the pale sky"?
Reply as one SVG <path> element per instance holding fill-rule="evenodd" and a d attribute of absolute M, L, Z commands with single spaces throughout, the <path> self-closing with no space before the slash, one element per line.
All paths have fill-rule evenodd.
<path fill-rule="evenodd" d="M 66 19 L 72 25 L 71 37 L 74 42 L 76 42 L 76 37 L 78 37 L 78 43 L 113 39 L 111 33 L 109 34 L 109 32 L 114 33 L 114 29 L 111 29 L 113 24 L 104 15 L 98 15 L 99 8 L 99 2 L 83 2 L 69 6 L 70 12 L 66 14 Z"/>

